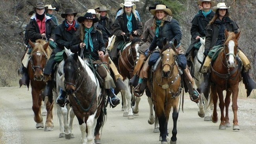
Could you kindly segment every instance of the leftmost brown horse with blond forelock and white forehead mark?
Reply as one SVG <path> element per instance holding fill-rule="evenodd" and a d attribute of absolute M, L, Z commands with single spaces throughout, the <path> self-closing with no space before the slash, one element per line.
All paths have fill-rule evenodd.
<path fill-rule="evenodd" d="M 36 128 L 44 127 L 43 117 L 41 115 L 41 92 L 45 88 L 45 82 L 43 81 L 43 69 L 45 67 L 47 58 L 50 57 L 52 50 L 48 47 L 49 42 L 43 40 L 37 40 L 35 44 L 29 41 L 30 46 L 32 47 L 32 52 L 30 56 L 30 61 L 28 63 L 28 76 L 30 79 L 32 101 L 33 101 L 33 112 L 34 120 L 37 123 Z M 53 104 L 49 101 L 46 103 L 46 122 L 45 122 L 45 131 L 53 131 L 53 122 L 52 122 L 52 107 Z"/>

